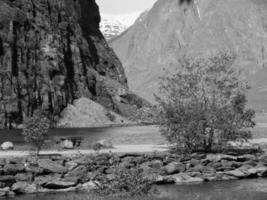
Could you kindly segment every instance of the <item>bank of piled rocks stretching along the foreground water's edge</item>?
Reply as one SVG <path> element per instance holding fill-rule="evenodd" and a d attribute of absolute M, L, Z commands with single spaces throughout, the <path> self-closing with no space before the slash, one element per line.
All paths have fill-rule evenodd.
<path fill-rule="evenodd" d="M 42 156 L 0 159 L 0 196 L 91 191 L 114 170 L 141 168 L 154 184 L 191 184 L 267 177 L 267 155 L 232 156 L 167 152 Z"/>

